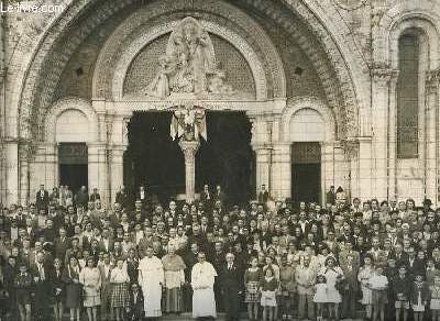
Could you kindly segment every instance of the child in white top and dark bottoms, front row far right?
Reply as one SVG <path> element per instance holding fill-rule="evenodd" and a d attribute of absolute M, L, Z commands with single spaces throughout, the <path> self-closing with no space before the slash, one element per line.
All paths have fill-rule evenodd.
<path fill-rule="evenodd" d="M 376 266 L 375 274 L 373 274 L 369 283 L 372 289 L 373 298 L 373 321 L 376 321 L 377 318 L 381 318 L 381 321 L 384 321 L 385 307 L 388 303 L 388 279 L 384 275 L 384 268 L 381 265 Z"/>

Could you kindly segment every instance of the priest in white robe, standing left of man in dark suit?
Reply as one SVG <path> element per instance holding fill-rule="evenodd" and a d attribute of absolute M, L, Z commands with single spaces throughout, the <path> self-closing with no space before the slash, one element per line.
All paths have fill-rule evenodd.
<path fill-rule="evenodd" d="M 217 276 L 212 264 L 206 262 L 205 253 L 200 252 L 198 261 L 191 270 L 193 318 L 217 318 L 213 283 Z"/>

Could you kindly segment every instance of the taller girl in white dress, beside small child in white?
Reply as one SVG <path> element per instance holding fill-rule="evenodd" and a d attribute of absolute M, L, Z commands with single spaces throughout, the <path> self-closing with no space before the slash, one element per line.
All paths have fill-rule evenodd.
<path fill-rule="evenodd" d="M 341 294 L 339 292 L 339 284 L 343 280 L 343 272 L 338 266 L 334 256 L 326 258 L 324 266 L 318 273 L 322 275 L 327 280 L 327 303 L 329 307 L 329 316 L 336 320 L 339 320 L 339 303 L 342 302 Z"/>

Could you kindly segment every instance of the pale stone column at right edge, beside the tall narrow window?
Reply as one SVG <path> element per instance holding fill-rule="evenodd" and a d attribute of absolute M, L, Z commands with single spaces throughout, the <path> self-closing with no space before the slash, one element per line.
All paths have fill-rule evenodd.
<path fill-rule="evenodd" d="M 439 80 L 440 70 L 427 73 L 426 78 L 426 164 L 425 164 L 425 184 L 426 197 L 433 204 L 438 203 L 438 113 L 439 113 Z"/>

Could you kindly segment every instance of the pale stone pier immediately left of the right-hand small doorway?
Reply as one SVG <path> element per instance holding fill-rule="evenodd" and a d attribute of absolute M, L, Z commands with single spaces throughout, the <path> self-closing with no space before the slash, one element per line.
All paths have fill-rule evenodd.
<path fill-rule="evenodd" d="M 271 174 L 272 196 L 275 199 L 292 197 L 292 155 L 289 143 L 274 143 Z"/>

